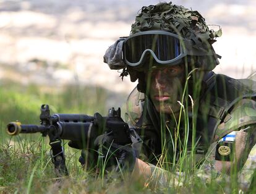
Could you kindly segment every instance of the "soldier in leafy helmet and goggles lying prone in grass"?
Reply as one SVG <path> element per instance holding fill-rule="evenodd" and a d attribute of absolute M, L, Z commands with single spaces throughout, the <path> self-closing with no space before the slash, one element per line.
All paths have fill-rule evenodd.
<path fill-rule="evenodd" d="M 106 51 L 110 69 L 139 82 L 127 99 L 126 122 L 143 143 L 122 158 L 135 157 L 128 159 L 135 177 L 171 187 L 182 184 L 184 172 L 209 182 L 238 171 L 238 187 L 249 189 L 256 172 L 255 83 L 212 72 L 221 58 L 212 46 L 219 36 L 221 29 L 210 30 L 197 11 L 161 2 L 142 7 L 130 36 Z"/>

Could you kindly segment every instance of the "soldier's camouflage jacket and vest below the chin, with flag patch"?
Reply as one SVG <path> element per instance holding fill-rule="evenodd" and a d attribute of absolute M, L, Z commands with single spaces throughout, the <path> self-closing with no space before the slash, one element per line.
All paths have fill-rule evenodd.
<path fill-rule="evenodd" d="M 191 111 L 190 103 L 185 126 L 177 126 L 177 120 L 166 115 L 160 116 L 151 100 L 134 88 L 127 99 L 126 122 L 143 140 L 139 158 L 148 162 L 153 172 L 161 169 L 163 156 L 169 159 L 171 166 L 179 162 L 185 151 L 193 153 L 197 175 L 205 181 L 213 171 L 216 175 L 231 173 L 235 164 L 241 188 L 247 190 L 256 173 L 255 86 L 252 80 L 236 80 L 208 72 L 200 99 L 191 99 L 192 104 L 199 104 L 197 112 Z M 193 125 L 196 146 L 192 150 Z M 174 145 L 177 130 L 182 143 Z M 166 180 L 161 182 L 165 184 Z"/>

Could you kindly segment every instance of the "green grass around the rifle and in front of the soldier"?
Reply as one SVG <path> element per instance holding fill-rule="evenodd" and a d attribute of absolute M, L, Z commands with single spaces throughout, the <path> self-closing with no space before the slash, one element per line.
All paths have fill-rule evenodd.
<path fill-rule="evenodd" d="M 69 177 L 57 179 L 49 155 L 50 146 L 47 137 L 43 138 L 40 134 L 22 134 L 17 137 L 9 137 L 5 131 L 6 124 L 15 120 L 20 120 L 23 124 L 39 124 L 41 104 L 49 104 L 51 113 L 66 112 L 93 115 L 94 112 L 100 112 L 105 115 L 108 108 L 110 108 L 106 105 L 108 104 L 108 98 L 113 98 L 113 95 L 126 99 L 125 95 L 113 94 L 97 87 L 66 86 L 62 90 L 56 90 L 56 88 L 37 87 L 35 85 L 22 86 L 17 83 L 15 85 L 11 83 L 2 85 L 0 88 L 0 193 L 224 192 L 227 182 L 211 180 L 205 183 L 192 174 L 195 167 L 191 166 L 192 164 L 187 166 L 186 161 L 189 156 L 185 152 L 182 153 L 179 163 L 176 164 L 174 161 L 171 168 L 169 168 L 169 158 L 164 152 L 158 162 L 158 166 L 171 172 L 182 169 L 190 174 L 190 177 L 178 177 L 178 182 L 181 183 L 180 187 L 176 185 L 159 187 L 155 184 L 144 187 L 139 182 L 132 182 L 126 175 L 124 177 L 118 175 L 104 177 L 90 171 L 90 169 L 83 169 L 78 162 L 80 151 L 67 146 L 66 141 L 64 147 Z M 180 114 L 186 117 L 186 104 L 192 99 L 185 96 L 181 101 L 185 106 L 181 109 Z M 181 120 L 177 120 L 177 129 L 179 129 L 180 122 Z M 163 133 L 166 132 L 163 131 Z M 171 135 L 171 132 L 167 134 Z M 179 134 L 176 134 L 173 137 L 174 147 L 179 144 L 184 146 L 186 150 L 187 133 L 185 137 L 185 141 L 181 141 Z M 193 145 L 196 145 L 196 142 Z M 162 148 L 166 151 L 164 141 Z M 229 192 L 237 193 L 236 174 L 231 178 L 231 183 L 228 183 Z M 169 179 L 172 179 L 172 177 L 169 177 Z"/>

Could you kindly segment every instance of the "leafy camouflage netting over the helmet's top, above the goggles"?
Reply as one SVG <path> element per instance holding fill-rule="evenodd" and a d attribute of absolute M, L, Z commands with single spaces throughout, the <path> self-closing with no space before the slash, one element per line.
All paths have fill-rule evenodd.
<path fill-rule="evenodd" d="M 203 43 L 213 44 L 216 37 L 221 36 L 221 29 L 210 30 L 205 19 L 197 11 L 183 6 L 173 5 L 172 2 L 160 2 L 155 6 L 144 6 L 132 24 L 130 34 L 147 30 L 166 30 L 176 33 L 188 40 L 194 41 L 194 48 L 207 49 Z"/>

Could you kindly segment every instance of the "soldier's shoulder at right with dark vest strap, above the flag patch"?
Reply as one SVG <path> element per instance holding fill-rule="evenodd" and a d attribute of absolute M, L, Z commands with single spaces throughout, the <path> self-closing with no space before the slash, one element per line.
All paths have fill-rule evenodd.
<path fill-rule="evenodd" d="M 213 130 L 213 141 L 216 141 L 234 130 L 256 124 L 256 82 L 222 74 L 214 74 L 213 78 L 208 95 L 211 97 L 209 115 L 219 120 Z"/>

